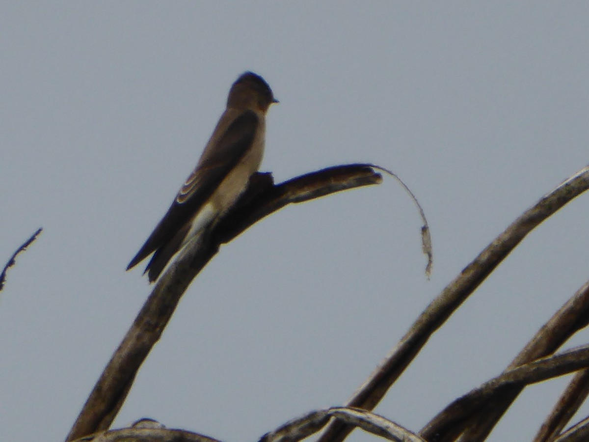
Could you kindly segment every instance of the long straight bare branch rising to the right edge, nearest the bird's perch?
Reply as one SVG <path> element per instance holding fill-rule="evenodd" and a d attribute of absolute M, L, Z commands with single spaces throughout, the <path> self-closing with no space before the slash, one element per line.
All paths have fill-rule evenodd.
<path fill-rule="evenodd" d="M 511 223 L 419 315 L 401 341 L 386 356 L 385 361 L 360 386 L 346 405 L 373 410 L 393 382 L 423 348 L 429 337 L 444 324 L 462 302 L 509 255 L 511 250 L 534 227 L 587 189 L 589 189 L 589 167 L 581 169 L 570 179 L 561 183 Z M 348 425 L 333 421 L 319 441 L 340 442 L 351 430 L 352 428 Z"/>

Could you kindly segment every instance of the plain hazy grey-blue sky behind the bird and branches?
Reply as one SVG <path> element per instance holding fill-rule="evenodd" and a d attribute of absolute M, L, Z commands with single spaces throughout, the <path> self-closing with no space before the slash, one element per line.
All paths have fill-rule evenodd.
<path fill-rule="evenodd" d="M 67 434 L 150 291 L 124 269 L 245 70 L 280 100 L 262 170 L 392 169 L 428 216 L 431 281 L 394 180 L 287 207 L 194 281 L 115 425 L 237 442 L 344 403 L 446 283 L 589 162 L 588 22 L 574 1 L 2 2 L 2 265 L 45 230 L 0 293 L 0 439 Z M 535 230 L 376 411 L 418 430 L 497 375 L 589 278 L 588 219 L 585 195 Z M 564 382 L 528 389 L 491 440 L 529 439 Z"/>

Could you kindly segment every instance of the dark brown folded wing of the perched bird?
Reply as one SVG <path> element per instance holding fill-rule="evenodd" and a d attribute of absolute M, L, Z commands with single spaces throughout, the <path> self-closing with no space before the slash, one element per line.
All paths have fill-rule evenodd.
<path fill-rule="evenodd" d="M 198 166 L 181 187 L 166 215 L 131 260 L 127 270 L 147 258 L 154 250 L 165 246 L 178 230 L 193 218 L 250 149 L 256 136 L 258 122 L 256 113 L 244 111 L 227 127 L 214 149 L 207 149 L 203 153 Z M 177 250 L 174 250 L 174 253 L 176 252 Z M 172 255 L 173 253 L 170 258 Z"/>

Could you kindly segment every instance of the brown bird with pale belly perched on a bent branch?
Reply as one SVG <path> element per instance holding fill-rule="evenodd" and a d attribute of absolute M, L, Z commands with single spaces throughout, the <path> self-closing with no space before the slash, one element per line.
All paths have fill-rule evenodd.
<path fill-rule="evenodd" d="M 190 239 L 210 229 L 236 203 L 262 162 L 266 111 L 273 103 L 278 100 L 260 75 L 245 72 L 237 78 L 196 169 L 127 270 L 153 253 L 144 273 L 155 281 Z"/>

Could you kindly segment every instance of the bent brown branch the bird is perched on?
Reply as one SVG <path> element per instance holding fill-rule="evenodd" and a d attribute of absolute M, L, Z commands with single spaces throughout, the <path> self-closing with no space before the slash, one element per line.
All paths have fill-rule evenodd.
<path fill-rule="evenodd" d="M 270 174 L 258 174 L 235 210 L 222 220 L 207 238 L 193 243 L 158 279 L 151 295 L 135 318 L 66 440 L 71 441 L 96 431 L 107 430 L 123 405 L 141 364 L 191 281 L 217 253 L 221 243 L 229 242 L 247 227 L 290 203 L 299 203 L 341 190 L 382 181 L 380 174 L 364 164 L 330 167 L 306 174 L 276 186 Z"/>

